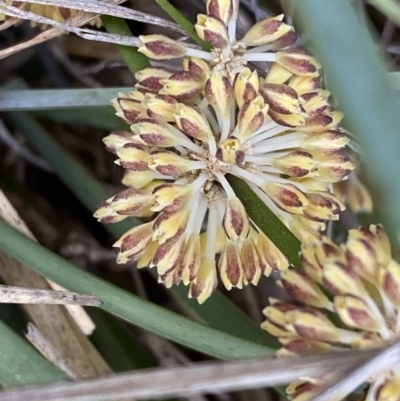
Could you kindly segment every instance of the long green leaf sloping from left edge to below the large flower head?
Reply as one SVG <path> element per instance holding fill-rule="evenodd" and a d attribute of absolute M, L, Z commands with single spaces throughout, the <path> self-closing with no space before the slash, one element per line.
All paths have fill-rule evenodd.
<path fill-rule="evenodd" d="M 97 295 L 102 309 L 139 327 L 204 354 L 241 359 L 273 354 L 265 346 L 242 340 L 128 293 L 78 268 L 0 220 L 0 248 L 62 287 Z"/>

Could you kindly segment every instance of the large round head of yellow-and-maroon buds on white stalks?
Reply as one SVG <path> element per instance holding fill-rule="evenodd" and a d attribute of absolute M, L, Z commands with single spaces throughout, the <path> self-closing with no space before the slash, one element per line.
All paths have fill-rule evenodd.
<path fill-rule="evenodd" d="M 288 267 L 249 219 L 229 175 L 306 241 L 338 218 L 344 206 L 331 186 L 353 169 L 341 152 L 348 143 L 338 130 L 342 114 L 320 87 L 317 61 L 288 49 L 297 36 L 283 16 L 236 39 L 237 4 L 209 0 L 207 15 L 198 16 L 195 28 L 210 52 L 162 35 L 140 37 L 139 51 L 155 60 L 183 58 L 183 69 L 138 72 L 137 90 L 113 102 L 132 132 L 104 140 L 126 169 L 128 189 L 95 216 L 115 222 L 157 214 L 114 244 L 118 263 L 157 266 L 161 282 L 190 284 L 199 302 L 215 289 L 217 270 L 231 289 Z M 264 77 L 247 64 L 265 61 L 272 64 Z"/>

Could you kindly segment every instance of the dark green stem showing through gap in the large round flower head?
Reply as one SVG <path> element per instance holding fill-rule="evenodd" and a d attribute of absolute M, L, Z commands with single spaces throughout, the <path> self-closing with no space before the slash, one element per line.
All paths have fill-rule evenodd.
<path fill-rule="evenodd" d="M 300 241 L 243 180 L 232 175 L 229 182 L 254 223 L 292 264 L 300 267 Z"/>

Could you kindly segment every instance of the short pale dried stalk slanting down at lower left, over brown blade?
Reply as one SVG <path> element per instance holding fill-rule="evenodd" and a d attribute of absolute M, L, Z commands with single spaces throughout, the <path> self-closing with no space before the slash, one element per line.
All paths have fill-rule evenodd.
<path fill-rule="evenodd" d="M 60 354 L 58 349 L 33 324 L 28 323 L 28 332 L 25 334 L 29 342 L 50 362 L 61 369 L 70 379 L 78 380 L 79 374 Z"/>

